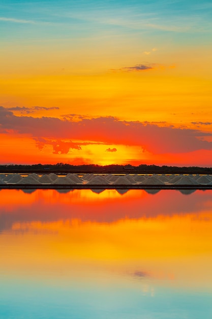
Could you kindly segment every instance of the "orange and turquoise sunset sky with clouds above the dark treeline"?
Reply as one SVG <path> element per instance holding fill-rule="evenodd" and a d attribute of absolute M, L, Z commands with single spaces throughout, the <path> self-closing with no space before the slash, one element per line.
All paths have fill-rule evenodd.
<path fill-rule="evenodd" d="M 211 166 L 210 0 L 0 0 L 0 164 Z"/>

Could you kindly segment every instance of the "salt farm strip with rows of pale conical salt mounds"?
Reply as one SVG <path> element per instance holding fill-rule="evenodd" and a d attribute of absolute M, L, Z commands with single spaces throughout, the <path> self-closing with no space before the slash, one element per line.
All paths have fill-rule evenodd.
<path fill-rule="evenodd" d="M 23 174 L 0 174 L 0 188 L 74 188 L 74 189 L 212 189 L 211 175 L 97 175 L 84 174 L 77 175 L 68 173 L 67 175 L 58 176 L 50 173 L 38 175 L 36 173 L 22 176 Z"/>

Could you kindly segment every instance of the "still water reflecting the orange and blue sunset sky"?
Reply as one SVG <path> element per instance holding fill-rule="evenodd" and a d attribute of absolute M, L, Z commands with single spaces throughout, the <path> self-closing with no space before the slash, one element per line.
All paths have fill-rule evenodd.
<path fill-rule="evenodd" d="M 0 191 L 0 318 L 211 319 L 212 191 Z"/>

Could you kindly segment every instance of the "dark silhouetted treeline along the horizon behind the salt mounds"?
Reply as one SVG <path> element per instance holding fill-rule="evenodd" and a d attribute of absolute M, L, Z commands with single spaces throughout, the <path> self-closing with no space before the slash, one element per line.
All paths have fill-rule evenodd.
<path fill-rule="evenodd" d="M 1 173 L 94 173 L 94 174 L 212 174 L 212 168 L 208 167 L 177 167 L 145 165 L 70 165 L 64 163 L 35 164 L 35 165 L 0 165 Z"/>

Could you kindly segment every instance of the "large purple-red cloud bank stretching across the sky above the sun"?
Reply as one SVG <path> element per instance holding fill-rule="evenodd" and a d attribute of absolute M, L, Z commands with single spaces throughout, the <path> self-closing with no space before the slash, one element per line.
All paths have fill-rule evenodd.
<path fill-rule="evenodd" d="M 44 139 L 52 145 L 55 152 L 67 152 L 72 147 L 80 150 L 83 143 L 139 146 L 153 154 L 212 150 L 212 142 L 201 140 L 211 137 L 211 133 L 197 129 L 174 128 L 167 126 L 167 123 L 165 125 L 120 121 L 113 117 L 72 121 L 54 117 L 15 116 L 11 111 L 0 107 L 1 131 L 31 136 L 37 139 L 39 147 L 42 147 L 42 143 L 45 145 L 45 142 L 39 139 Z M 69 144 L 54 144 L 56 141 L 69 141 Z M 79 142 L 72 144 L 71 141 Z"/>

